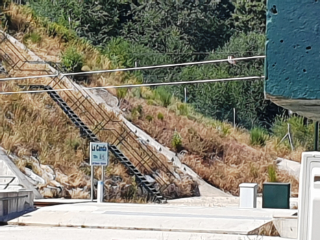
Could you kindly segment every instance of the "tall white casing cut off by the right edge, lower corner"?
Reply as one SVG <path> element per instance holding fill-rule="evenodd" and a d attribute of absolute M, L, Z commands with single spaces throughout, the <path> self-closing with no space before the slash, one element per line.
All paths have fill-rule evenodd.
<path fill-rule="evenodd" d="M 320 152 L 302 154 L 299 208 L 298 239 L 320 239 Z"/>

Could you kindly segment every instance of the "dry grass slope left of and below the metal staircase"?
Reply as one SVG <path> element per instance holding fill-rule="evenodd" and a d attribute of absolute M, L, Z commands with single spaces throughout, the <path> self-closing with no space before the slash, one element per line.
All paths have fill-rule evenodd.
<path fill-rule="evenodd" d="M 3 86 L 3 91 L 12 91 L 13 84 Z M 90 191 L 90 167 L 82 167 L 88 159 L 88 145 L 79 136 L 79 130 L 70 123 L 60 108 L 46 94 L 0 95 L 0 143 L 1 146 L 19 157 L 16 160 L 21 170 L 32 165 L 35 173 L 45 178 L 47 184 L 38 186 L 45 197 L 56 197 L 48 186 L 56 187 L 46 178 L 43 167 L 36 164 L 30 156 L 36 156 L 41 165 L 50 165 L 56 175 L 55 180 L 64 187 L 63 197 L 88 198 Z M 96 171 L 99 179 L 101 172 Z M 134 181 L 120 164 L 112 163 L 106 177 L 121 179 L 121 185 L 106 182 L 107 187 L 116 187 L 125 200 L 123 193 Z M 109 200 L 115 201 L 119 193 L 108 191 Z M 140 199 L 142 195 L 137 195 Z M 127 197 L 134 201 L 133 197 Z"/>

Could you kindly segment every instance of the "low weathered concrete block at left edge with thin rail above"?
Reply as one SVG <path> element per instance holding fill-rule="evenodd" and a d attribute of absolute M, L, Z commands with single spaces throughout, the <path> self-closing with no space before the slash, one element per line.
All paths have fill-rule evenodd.
<path fill-rule="evenodd" d="M 10 221 L 33 210 L 32 191 L 0 191 L 0 222 Z"/>

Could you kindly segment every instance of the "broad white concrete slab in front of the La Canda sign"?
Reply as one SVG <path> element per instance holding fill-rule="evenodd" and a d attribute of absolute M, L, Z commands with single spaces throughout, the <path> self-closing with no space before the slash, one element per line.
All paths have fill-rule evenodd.
<path fill-rule="evenodd" d="M 273 215 L 291 216 L 296 212 L 158 204 L 64 204 L 40 208 L 9 224 L 253 235 L 271 222 Z"/>

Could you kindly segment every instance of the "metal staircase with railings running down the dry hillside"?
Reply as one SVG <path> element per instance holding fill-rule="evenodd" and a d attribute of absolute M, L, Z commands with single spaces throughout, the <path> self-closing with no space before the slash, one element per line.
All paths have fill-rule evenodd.
<path fill-rule="evenodd" d="M 72 77 L 60 75 L 65 72 L 60 64 L 44 62 L 19 44 L 0 32 L 0 59 L 5 63 L 8 72 L 16 76 L 26 73 L 30 76 L 51 75 L 32 79 L 34 86 L 29 86 L 30 80 L 19 83 L 34 91 L 47 90 L 50 97 L 79 128 L 82 136 L 86 136 L 90 141 L 110 144 L 112 154 L 136 176 L 136 180 L 153 195 L 154 200 L 159 202 L 170 198 L 169 186 L 179 176 L 173 171 L 167 158 L 156 154 L 155 149 L 139 141 L 136 134 L 121 119 L 103 104 L 97 104 L 93 99 L 94 95 L 75 84 Z M 55 77 L 52 77 L 53 73 Z M 64 88 L 73 88 L 74 91 L 61 91 Z"/>

